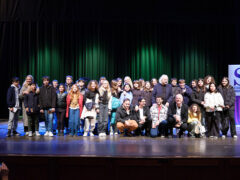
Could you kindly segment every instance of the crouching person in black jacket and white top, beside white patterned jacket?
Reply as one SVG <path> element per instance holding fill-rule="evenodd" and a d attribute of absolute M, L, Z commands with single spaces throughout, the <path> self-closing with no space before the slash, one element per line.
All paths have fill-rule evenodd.
<path fill-rule="evenodd" d="M 145 135 L 150 136 L 150 129 L 152 124 L 152 119 L 150 115 L 150 110 L 146 106 L 146 100 L 144 98 L 138 99 L 138 106 L 135 106 L 135 119 L 138 121 L 138 128 L 136 130 L 136 135 L 142 135 L 142 131 L 145 130 Z"/>

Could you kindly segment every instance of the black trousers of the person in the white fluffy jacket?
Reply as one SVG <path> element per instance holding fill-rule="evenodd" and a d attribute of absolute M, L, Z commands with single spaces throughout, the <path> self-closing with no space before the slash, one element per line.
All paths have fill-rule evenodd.
<path fill-rule="evenodd" d="M 219 136 L 222 111 L 206 112 L 207 136 Z"/>

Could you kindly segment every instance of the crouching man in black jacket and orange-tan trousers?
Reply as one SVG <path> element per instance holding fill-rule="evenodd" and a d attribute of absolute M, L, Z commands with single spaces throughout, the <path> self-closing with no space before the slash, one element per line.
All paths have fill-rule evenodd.
<path fill-rule="evenodd" d="M 138 123 L 134 120 L 134 109 L 130 107 L 130 100 L 124 99 L 122 106 L 116 112 L 117 128 L 120 133 L 126 132 L 127 136 L 132 136 L 131 132 L 138 128 Z"/>

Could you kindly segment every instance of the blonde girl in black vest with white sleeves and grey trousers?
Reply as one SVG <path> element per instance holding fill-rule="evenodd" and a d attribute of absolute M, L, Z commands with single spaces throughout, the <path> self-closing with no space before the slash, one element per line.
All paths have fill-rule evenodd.
<path fill-rule="evenodd" d="M 106 136 L 108 125 L 108 114 L 112 109 L 112 94 L 109 87 L 109 82 L 103 80 L 101 87 L 99 88 L 99 121 L 98 121 L 98 133 L 99 137 Z"/>

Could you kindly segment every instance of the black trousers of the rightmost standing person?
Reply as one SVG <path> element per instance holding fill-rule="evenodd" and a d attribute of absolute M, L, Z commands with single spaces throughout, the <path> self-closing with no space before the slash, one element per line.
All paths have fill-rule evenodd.
<path fill-rule="evenodd" d="M 234 119 L 234 110 L 227 109 L 223 111 L 222 119 L 221 119 L 221 125 L 222 125 L 221 130 L 223 135 L 227 135 L 227 132 L 229 130 L 229 124 L 230 124 L 231 136 L 237 135 L 235 119 Z"/>

